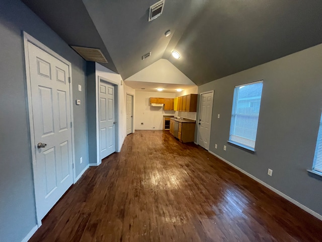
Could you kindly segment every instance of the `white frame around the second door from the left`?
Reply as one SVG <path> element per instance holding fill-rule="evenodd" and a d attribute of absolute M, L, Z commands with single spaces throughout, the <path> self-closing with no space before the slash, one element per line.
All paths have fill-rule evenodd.
<path fill-rule="evenodd" d="M 117 152 L 118 150 L 118 143 L 119 143 L 119 137 L 118 137 L 118 131 L 119 131 L 119 122 L 118 122 L 118 84 L 106 79 L 106 78 L 103 78 L 103 77 L 100 77 L 100 76 L 97 76 L 96 78 L 96 157 L 97 157 L 97 160 L 96 160 L 96 164 L 90 164 L 90 166 L 98 166 L 102 163 L 102 160 L 101 160 L 101 151 L 100 151 L 100 147 L 101 147 L 101 144 L 100 144 L 100 113 L 99 113 L 99 99 L 100 99 L 100 82 L 103 81 L 103 82 L 106 82 L 107 84 L 110 84 L 112 86 L 114 86 L 114 116 L 115 116 L 115 152 Z"/>

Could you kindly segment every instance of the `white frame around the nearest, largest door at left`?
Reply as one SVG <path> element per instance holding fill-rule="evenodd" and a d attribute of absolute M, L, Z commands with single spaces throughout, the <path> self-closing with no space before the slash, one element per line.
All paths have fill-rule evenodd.
<path fill-rule="evenodd" d="M 31 155 L 32 155 L 32 168 L 33 168 L 33 175 L 34 177 L 37 175 L 37 169 L 36 169 L 36 150 L 34 147 L 34 144 L 36 144 L 35 141 L 35 136 L 34 136 L 34 119 L 33 119 L 33 109 L 32 109 L 32 100 L 31 100 L 31 80 L 30 80 L 30 71 L 29 71 L 29 52 L 28 52 L 28 42 L 36 45 L 37 47 L 41 48 L 42 50 L 46 51 L 48 54 L 54 56 L 55 58 L 59 59 L 59 61 L 63 62 L 68 66 L 68 72 L 69 72 L 69 77 L 70 77 L 70 84 L 69 84 L 69 99 L 70 99 L 70 121 L 73 124 L 74 119 L 73 119 L 73 101 L 72 101 L 72 82 L 71 82 L 71 63 L 68 62 L 65 58 L 60 56 L 59 54 L 55 53 L 53 50 L 48 48 L 46 45 L 42 44 L 39 42 L 37 39 L 32 37 L 31 35 L 27 34 L 26 32 L 23 32 L 24 35 L 24 51 L 25 51 L 25 68 L 26 68 L 26 84 L 27 84 L 27 103 L 28 103 L 28 116 L 29 116 L 29 129 L 30 129 L 30 147 L 31 147 Z M 72 152 L 72 172 L 73 172 L 73 183 L 75 183 L 75 166 L 74 166 L 74 161 L 75 161 L 75 146 L 74 146 L 74 126 L 72 125 L 71 129 L 71 152 Z M 37 212 L 39 208 L 38 204 L 38 187 L 37 184 L 35 183 L 35 178 L 33 179 L 34 181 L 34 195 L 35 195 L 35 202 L 36 202 L 36 217 L 37 217 L 37 225 L 38 227 L 41 226 L 41 217 L 39 217 L 39 213 Z"/>

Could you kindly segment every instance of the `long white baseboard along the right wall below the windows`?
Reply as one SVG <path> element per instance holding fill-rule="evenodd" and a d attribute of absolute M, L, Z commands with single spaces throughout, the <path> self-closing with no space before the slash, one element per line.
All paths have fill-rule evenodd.
<path fill-rule="evenodd" d="M 256 180 L 258 183 L 262 184 L 263 186 L 267 187 L 268 189 L 272 190 L 274 193 L 280 195 L 281 197 L 285 198 L 286 200 L 288 200 L 289 202 L 295 204 L 297 207 L 303 209 L 304 211 L 308 212 L 309 214 L 313 215 L 314 217 L 318 218 L 319 220 L 322 220 L 322 215 L 314 212 L 313 210 L 309 209 L 308 207 L 305 207 L 303 204 L 297 202 L 296 200 L 290 198 L 289 196 L 285 195 L 284 193 L 278 191 L 277 189 L 271 187 L 270 185 L 264 183 L 264 181 L 260 180 L 259 178 L 255 177 L 254 175 L 248 173 L 247 171 L 240 169 L 238 166 L 230 163 L 229 161 L 225 160 L 224 158 L 220 157 L 219 155 L 216 155 L 215 153 L 211 152 L 210 150 L 208 151 L 210 154 L 216 156 L 217 158 L 219 158 L 220 160 L 226 162 L 228 165 L 236 168 L 237 170 L 239 170 L 240 172 L 246 174 L 247 176 L 251 177 L 252 179 Z"/>

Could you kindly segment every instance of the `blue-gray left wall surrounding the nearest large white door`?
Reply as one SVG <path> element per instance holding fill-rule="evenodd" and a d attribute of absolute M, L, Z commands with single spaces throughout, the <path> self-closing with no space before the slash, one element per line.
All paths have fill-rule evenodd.
<path fill-rule="evenodd" d="M 36 225 L 27 112 L 24 30 L 72 65 L 76 175 L 88 164 L 85 87 L 86 62 L 23 3 L 0 2 L 0 241 L 21 241 Z M 85 90 L 85 88 L 84 88 Z M 79 158 L 83 157 L 82 165 Z M 78 162 L 77 162 L 78 161 Z"/>

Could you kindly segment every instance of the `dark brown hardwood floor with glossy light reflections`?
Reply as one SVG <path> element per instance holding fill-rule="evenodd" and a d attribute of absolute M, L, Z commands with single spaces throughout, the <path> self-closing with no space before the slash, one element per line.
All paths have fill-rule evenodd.
<path fill-rule="evenodd" d="M 29 241 L 322 241 L 322 222 L 195 144 L 136 131 Z"/>

